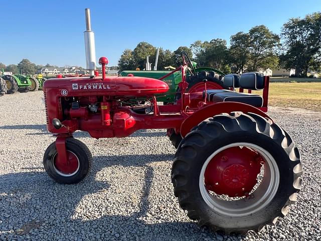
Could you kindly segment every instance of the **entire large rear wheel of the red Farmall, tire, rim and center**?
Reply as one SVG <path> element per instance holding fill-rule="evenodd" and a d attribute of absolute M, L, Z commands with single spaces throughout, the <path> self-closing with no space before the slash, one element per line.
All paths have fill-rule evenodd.
<path fill-rule="evenodd" d="M 210 193 L 212 186 L 205 186 L 205 173 L 215 157 L 220 161 L 229 160 L 232 162 L 228 163 L 230 166 L 235 165 L 235 160 L 248 157 L 237 156 L 233 160 L 223 156 L 224 159 L 220 159 L 221 150 L 228 150 L 233 145 L 241 150 L 254 147 L 249 150 L 259 155 L 263 153 L 260 160 L 264 160 L 264 176 L 255 191 L 252 189 L 248 193 L 250 198 L 245 194 L 239 200 L 222 200 L 215 196 L 218 195 L 215 192 Z M 210 175 L 215 175 L 215 170 L 220 167 L 222 162 L 210 169 L 214 170 Z M 270 169 L 265 169 L 268 167 Z M 248 170 L 251 174 L 251 169 Z M 233 112 L 215 115 L 200 123 L 182 140 L 173 163 L 172 182 L 180 206 L 199 225 L 225 233 L 246 233 L 248 230 L 259 231 L 266 224 L 275 224 L 277 217 L 287 214 L 288 205 L 296 201 L 301 188 L 301 174 L 299 152 L 285 131 L 257 114 Z M 224 175 L 222 180 L 226 181 Z M 237 175 L 227 181 L 244 180 L 238 179 L 240 176 Z M 257 178 L 256 174 L 254 178 Z M 223 184 L 217 182 L 214 185 Z"/>

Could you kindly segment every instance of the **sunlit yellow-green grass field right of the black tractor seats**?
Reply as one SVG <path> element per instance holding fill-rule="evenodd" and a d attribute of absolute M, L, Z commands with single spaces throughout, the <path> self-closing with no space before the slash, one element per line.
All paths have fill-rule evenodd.
<path fill-rule="evenodd" d="M 270 83 L 269 105 L 321 111 L 321 82 Z"/>

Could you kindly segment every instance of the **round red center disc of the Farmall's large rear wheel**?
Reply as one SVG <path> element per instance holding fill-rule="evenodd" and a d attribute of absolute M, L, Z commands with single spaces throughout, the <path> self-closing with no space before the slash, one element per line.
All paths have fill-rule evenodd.
<path fill-rule="evenodd" d="M 231 147 L 215 155 L 205 170 L 209 191 L 229 197 L 248 195 L 257 183 L 263 158 L 247 147 Z"/>

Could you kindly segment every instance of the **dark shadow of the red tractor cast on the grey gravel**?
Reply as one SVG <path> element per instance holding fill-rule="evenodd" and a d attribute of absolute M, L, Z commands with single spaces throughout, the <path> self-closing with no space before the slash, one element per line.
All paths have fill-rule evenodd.
<path fill-rule="evenodd" d="M 1 175 L 0 232 L 2 234 L 0 239 L 12 239 L 18 236 L 25 239 L 29 236 L 34 240 L 40 233 L 44 235 L 44 239 L 59 237 L 62 240 L 70 236 L 93 240 L 98 238 L 103 240 L 225 240 L 228 237 L 237 240 L 241 238 L 240 235 L 220 235 L 207 228 L 200 228 L 195 222 L 148 223 L 150 222 L 147 218 L 150 206 L 148 197 L 154 177 L 153 167 L 148 163 L 172 159 L 173 155 L 166 154 L 94 157 L 89 175 L 75 185 L 57 184 L 45 172 L 35 171 L 33 168 L 31 172 Z M 73 218 L 73 215 L 81 212 L 77 206 L 85 196 L 95 195 L 110 188 L 108 182 L 97 181 L 95 176 L 102 169 L 112 166 L 144 167 L 144 183 L 138 211 L 129 216 L 103 215 L 89 220 Z M 26 169 L 28 168 L 24 170 Z M 91 205 L 97 205 L 94 200 L 92 201 Z M 108 210 L 108 205 L 108 201 L 99 203 L 99 208 Z M 166 215 L 171 216 L 171 213 Z"/>

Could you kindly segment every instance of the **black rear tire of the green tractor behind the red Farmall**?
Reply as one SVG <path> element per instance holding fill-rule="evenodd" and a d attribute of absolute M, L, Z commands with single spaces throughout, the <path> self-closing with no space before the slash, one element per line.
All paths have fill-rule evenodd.
<path fill-rule="evenodd" d="M 223 84 L 223 76 L 215 73 L 214 71 L 201 71 L 196 73 L 196 75 L 191 75 L 186 77 L 186 82 L 189 84 L 187 87 L 187 92 L 190 92 L 198 83 L 203 83 L 203 80 L 206 79 L 208 82 L 215 83 L 221 89 L 227 89 Z M 181 88 L 178 87 L 175 95 L 175 102 L 181 98 Z"/>

